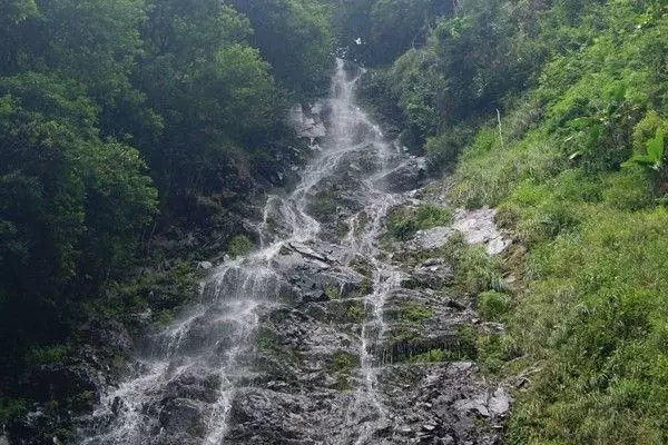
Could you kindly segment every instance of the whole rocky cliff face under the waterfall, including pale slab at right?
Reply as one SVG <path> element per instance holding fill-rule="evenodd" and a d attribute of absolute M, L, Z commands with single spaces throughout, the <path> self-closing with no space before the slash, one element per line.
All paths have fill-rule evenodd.
<path fill-rule="evenodd" d="M 308 116 L 320 152 L 292 194 L 267 199 L 258 249 L 216 266 L 200 300 L 147 338 L 78 443 L 501 442 L 511 399 L 468 354 L 478 316 L 438 249 L 458 229 L 491 254 L 507 241 L 491 211 L 389 238 L 393 210 L 438 196 L 423 161 L 355 106 L 360 75 L 340 62 Z"/>

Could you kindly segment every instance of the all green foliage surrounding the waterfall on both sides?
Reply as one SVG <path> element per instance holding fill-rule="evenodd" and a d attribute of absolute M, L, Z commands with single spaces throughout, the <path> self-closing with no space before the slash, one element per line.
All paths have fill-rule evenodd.
<path fill-rule="evenodd" d="M 518 239 L 502 261 L 444 247 L 507 325 L 474 353 L 522 377 L 508 442 L 668 443 L 666 34 L 665 0 L 0 0 L 0 422 L 87 318 L 169 320 L 195 276 L 131 273 L 156 227 L 275 180 L 337 41 L 451 200 Z"/>

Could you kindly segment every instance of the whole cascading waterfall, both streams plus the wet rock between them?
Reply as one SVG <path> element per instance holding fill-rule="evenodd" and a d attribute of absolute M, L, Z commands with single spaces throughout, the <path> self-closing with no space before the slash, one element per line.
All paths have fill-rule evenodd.
<path fill-rule="evenodd" d="M 337 60 L 318 105 L 322 149 L 292 194 L 268 197 L 259 249 L 219 266 L 200 300 L 148 339 L 136 375 L 104 397 L 80 444 L 363 445 L 396 429 L 381 375 L 385 304 L 402 273 L 379 239 L 387 212 L 410 200 L 384 191 L 409 157 L 355 106 L 362 72 L 348 71 Z M 332 315 L 342 305 L 344 320 Z"/>

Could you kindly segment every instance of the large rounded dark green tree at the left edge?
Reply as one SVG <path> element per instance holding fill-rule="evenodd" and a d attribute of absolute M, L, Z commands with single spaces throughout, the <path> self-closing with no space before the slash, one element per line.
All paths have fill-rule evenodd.
<path fill-rule="evenodd" d="M 0 79 L 0 337 L 13 338 L 6 353 L 61 337 L 62 310 L 127 264 L 156 209 L 137 150 L 100 139 L 97 113 L 76 81 Z"/>

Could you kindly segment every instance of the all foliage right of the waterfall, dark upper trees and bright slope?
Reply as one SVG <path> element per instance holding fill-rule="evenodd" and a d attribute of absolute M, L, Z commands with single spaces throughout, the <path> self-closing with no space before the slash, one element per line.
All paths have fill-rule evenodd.
<path fill-rule="evenodd" d="M 510 444 L 668 442 L 667 32 L 664 1 L 461 1 L 363 86 L 518 238 L 478 298 Z"/>

